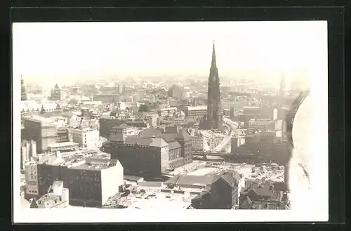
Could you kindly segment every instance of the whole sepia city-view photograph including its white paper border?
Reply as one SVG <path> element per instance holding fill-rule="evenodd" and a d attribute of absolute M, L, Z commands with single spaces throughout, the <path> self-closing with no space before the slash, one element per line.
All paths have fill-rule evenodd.
<path fill-rule="evenodd" d="M 328 220 L 327 60 L 324 21 L 13 23 L 14 221 Z"/>

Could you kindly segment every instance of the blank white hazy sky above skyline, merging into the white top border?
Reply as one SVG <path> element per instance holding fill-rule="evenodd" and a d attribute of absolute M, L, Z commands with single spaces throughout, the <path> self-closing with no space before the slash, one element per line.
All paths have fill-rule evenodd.
<path fill-rule="evenodd" d="M 13 77 L 220 76 L 305 78 L 327 53 L 326 22 L 27 22 L 13 25 Z M 314 62 L 314 65 L 311 65 Z M 322 63 L 322 62 L 321 62 Z"/>

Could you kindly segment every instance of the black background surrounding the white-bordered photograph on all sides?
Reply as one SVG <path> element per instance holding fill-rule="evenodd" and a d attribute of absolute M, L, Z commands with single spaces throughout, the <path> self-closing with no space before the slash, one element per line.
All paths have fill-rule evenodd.
<path fill-rule="evenodd" d="M 47 0 L 48 1 L 48 0 Z M 341 230 L 345 226 L 345 100 L 344 74 L 350 60 L 350 1 L 1 1 L 1 106 L 8 113 L 1 113 L 0 135 L 2 152 L 2 182 L 12 185 L 11 166 L 11 21 L 227 21 L 227 20 L 328 20 L 329 54 L 329 210 L 330 223 L 217 223 L 217 224 L 122 224 L 122 225 L 11 225 L 12 188 L 3 187 L 0 230 L 53 230 L 53 229 L 199 229 L 199 230 Z M 118 4 L 117 4 L 118 3 Z M 6 5 L 7 4 L 7 5 Z M 56 6 L 60 8 L 10 8 L 10 6 Z M 124 8 L 62 8 L 74 6 L 119 6 Z M 229 7 L 228 7 L 229 6 Z M 239 7 L 238 7 L 239 6 Z M 259 6 L 252 8 L 254 6 Z M 292 7 L 294 6 L 294 7 Z M 147 8 L 142 8 L 147 7 Z M 157 7 L 157 8 L 156 8 Z M 215 8 L 213 8 L 215 7 Z M 235 8 L 236 7 L 236 8 Z M 344 44 L 345 46 L 344 48 Z M 286 44 L 289 46 L 289 44 Z M 345 53 L 344 53 L 345 52 Z M 5 62 L 4 62 L 5 61 Z M 7 62 L 6 62 L 7 61 Z M 345 67 L 345 69 L 344 69 Z M 345 73 L 344 73 L 345 71 Z M 347 93 L 347 91 L 345 91 Z M 9 98 L 9 100 L 8 100 Z M 346 117 L 347 118 L 347 117 Z M 8 130 L 6 130 L 8 129 Z M 8 132 L 7 132 L 8 131 Z M 9 136 L 7 134 L 9 134 Z M 17 145 L 17 144 L 14 144 Z M 9 158 L 4 158 L 9 157 Z M 7 160 L 7 161 L 6 161 Z M 10 174 L 8 174 L 10 173 Z M 6 177 L 7 180 L 6 180 Z M 6 199 L 8 198 L 8 199 Z M 311 201 L 310 205 L 319 203 Z M 162 211 L 160 211 L 162 212 Z M 98 216 L 98 214 L 97 214 Z M 157 216 L 157 215 L 155 215 Z M 171 215 L 170 216 L 175 216 Z M 217 227 L 218 226 L 218 227 Z M 3 229 L 4 228 L 4 229 Z"/>

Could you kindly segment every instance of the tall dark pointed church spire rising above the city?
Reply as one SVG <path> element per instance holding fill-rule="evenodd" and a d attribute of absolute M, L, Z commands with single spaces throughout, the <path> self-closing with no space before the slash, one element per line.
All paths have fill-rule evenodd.
<path fill-rule="evenodd" d="M 220 80 L 216 64 L 215 43 L 213 41 L 212 62 L 208 77 L 208 102 L 206 125 L 209 129 L 222 127 L 222 109 L 220 106 Z"/>

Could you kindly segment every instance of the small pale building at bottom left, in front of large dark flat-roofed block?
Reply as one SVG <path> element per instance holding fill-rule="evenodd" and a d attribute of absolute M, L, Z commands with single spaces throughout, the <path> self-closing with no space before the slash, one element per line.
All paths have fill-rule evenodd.
<path fill-rule="evenodd" d="M 62 181 L 54 181 L 48 193 L 37 200 L 38 209 L 60 209 L 69 206 L 69 190 Z"/>

